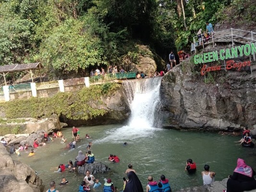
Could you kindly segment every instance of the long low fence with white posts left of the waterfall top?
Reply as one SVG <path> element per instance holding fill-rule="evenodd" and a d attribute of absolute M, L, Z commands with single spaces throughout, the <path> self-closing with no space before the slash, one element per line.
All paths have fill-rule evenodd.
<path fill-rule="evenodd" d="M 49 97 L 58 92 L 69 92 L 104 83 L 119 83 L 123 80 L 135 79 L 135 72 L 117 72 L 93 77 L 82 77 L 43 83 L 27 83 L 0 86 L 0 101 L 11 101 L 30 97 Z"/>

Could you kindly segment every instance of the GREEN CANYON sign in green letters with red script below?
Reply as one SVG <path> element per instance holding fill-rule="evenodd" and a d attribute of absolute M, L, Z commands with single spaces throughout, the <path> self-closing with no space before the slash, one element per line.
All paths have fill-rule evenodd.
<path fill-rule="evenodd" d="M 226 61 L 227 70 L 230 70 L 233 68 L 233 69 L 238 69 L 238 71 L 240 71 L 242 67 L 251 66 L 251 61 L 248 60 L 248 61 L 236 63 L 234 60 L 231 60 L 231 59 L 253 55 L 254 53 L 256 53 L 256 44 L 251 43 L 251 44 L 246 44 L 242 46 L 237 46 L 234 48 L 220 49 L 219 53 L 218 51 L 212 51 L 212 52 L 195 55 L 194 63 L 195 64 L 204 63 L 201 69 L 201 75 L 205 75 L 207 72 L 210 72 L 210 71 L 221 70 L 220 65 L 207 67 L 207 65 L 205 64 L 207 62 L 213 62 L 218 60 L 228 60 Z"/>

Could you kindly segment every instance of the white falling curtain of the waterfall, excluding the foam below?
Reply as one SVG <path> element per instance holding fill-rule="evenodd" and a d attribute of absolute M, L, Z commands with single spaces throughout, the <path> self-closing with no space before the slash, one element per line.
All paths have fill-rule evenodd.
<path fill-rule="evenodd" d="M 125 95 L 131 108 L 129 127 L 154 127 L 159 106 L 161 77 L 123 81 Z"/>

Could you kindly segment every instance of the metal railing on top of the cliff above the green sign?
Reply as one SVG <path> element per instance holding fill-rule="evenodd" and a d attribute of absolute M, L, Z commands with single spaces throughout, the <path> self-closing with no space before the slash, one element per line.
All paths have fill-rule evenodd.
<path fill-rule="evenodd" d="M 223 33 L 223 35 L 219 36 L 219 34 Z M 241 33 L 244 33 L 243 36 L 241 36 Z M 209 37 L 204 39 L 203 38 L 203 34 L 198 35 L 201 36 L 201 40 L 199 40 L 198 36 L 194 36 L 193 37 L 193 42 L 195 45 L 195 53 L 196 53 L 196 47 L 202 45 L 203 49 L 205 48 L 205 45 L 208 45 L 209 43 L 207 43 L 208 41 L 210 42 L 210 44 L 212 43 L 212 46 L 214 47 L 214 43 L 221 41 L 220 39 L 223 39 L 222 41 L 227 41 L 227 42 L 232 42 L 232 47 L 234 47 L 234 42 L 239 42 L 241 40 L 247 40 L 250 42 L 256 42 L 256 33 L 253 31 L 244 31 L 244 30 L 240 30 L 240 29 L 226 29 L 226 30 L 222 30 L 222 31 L 214 31 L 214 32 L 210 32 L 207 33 L 209 34 Z M 255 36 L 255 37 L 254 37 Z M 197 40 L 196 40 L 197 38 Z M 225 39 L 225 38 L 229 38 L 229 39 Z M 207 41 L 207 42 L 204 42 Z"/>

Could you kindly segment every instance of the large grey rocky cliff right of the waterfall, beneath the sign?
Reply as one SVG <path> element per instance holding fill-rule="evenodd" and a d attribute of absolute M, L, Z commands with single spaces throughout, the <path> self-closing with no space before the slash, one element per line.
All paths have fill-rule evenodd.
<path fill-rule="evenodd" d="M 256 125 L 255 64 L 253 75 L 250 68 L 241 72 L 221 70 L 211 73 L 208 83 L 203 76 L 196 76 L 191 65 L 183 61 L 162 79 L 164 127 L 235 131 Z"/>

